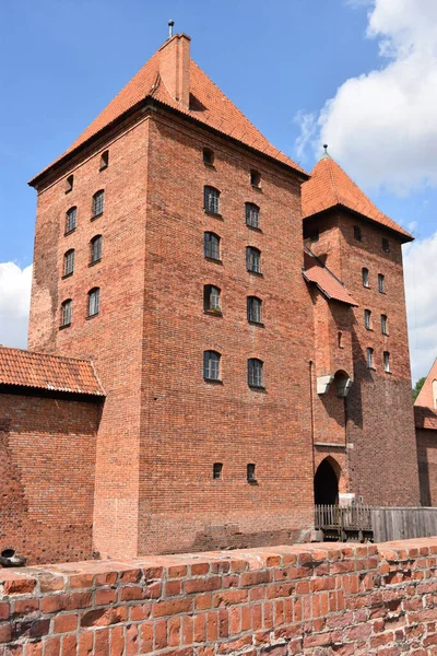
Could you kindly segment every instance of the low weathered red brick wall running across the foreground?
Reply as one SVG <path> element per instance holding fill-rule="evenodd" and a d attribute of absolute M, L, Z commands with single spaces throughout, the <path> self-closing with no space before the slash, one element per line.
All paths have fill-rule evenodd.
<path fill-rule="evenodd" d="M 0 571 L 1 656 L 437 654 L 437 538 Z"/>

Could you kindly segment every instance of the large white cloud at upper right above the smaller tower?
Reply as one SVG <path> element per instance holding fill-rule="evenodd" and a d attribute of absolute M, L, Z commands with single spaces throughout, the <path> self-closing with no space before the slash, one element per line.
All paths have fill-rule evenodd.
<path fill-rule="evenodd" d="M 379 39 L 381 68 L 346 80 L 316 119 L 299 113 L 296 149 L 328 143 L 366 188 L 402 195 L 437 186 L 437 1 L 369 7 L 367 36 Z"/>

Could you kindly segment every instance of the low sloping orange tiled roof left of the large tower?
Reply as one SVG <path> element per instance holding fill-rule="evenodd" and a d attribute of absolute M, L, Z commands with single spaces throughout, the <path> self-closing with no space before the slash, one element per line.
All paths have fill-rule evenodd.
<path fill-rule="evenodd" d="M 0 347 L 0 385 L 105 396 L 93 363 Z"/>

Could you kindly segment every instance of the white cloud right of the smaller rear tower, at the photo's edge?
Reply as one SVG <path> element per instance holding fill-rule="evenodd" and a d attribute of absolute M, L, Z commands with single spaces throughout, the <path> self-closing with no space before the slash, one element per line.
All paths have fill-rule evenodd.
<path fill-rule="evenodd" d="M 406 311 L 413 380 L 426 376 L 437 356 L 437 232 L 404 247 Z"/>

